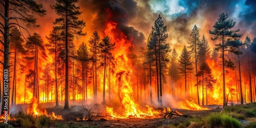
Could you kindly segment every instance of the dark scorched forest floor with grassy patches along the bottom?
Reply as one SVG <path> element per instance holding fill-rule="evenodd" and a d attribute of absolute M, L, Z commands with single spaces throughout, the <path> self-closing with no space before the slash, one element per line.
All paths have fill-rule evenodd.
<path fill-rule="evenodd" d="M 50 120 L 46 127 L 256 127 L 256 103 L 227 106 L 222 115 L 219 114 L 222 106 L 208 105 L 205 107 L 211 110 L 191 111 L 176 109 L 187 116 L 176 116 L 172 119 L 112 119 L 108 116 L 97 115 L 97 118 L 93 121 L 84 119 L 84 111 L 79 105 L 70 106 L 69 111 L 63 110 L 63 106 L 49 107 L 46 109 L 47 112 L 49 114 L 54 112 L 56 115 L 61 115 L 62 120 Z M 26 107 L 23 105 L 23 108 Z M 214 117 L 216 114 L 220 115 L 220 117 L 228 116 L 231 120 L 227 122 L 228 119 L 217 117 L 218 119 L 220 118 L 218 122 L 218 119 Z M 233 119 L 238 122 L 233 121 Z M 22 127 L 28 127 L 28 125 L 23 125 L 22 121 L 20 122 Z M 236 125 L 236 123 L 239 124 Z M 17 119 L 11 120 L 10 124 L 13 127 L 20 127 Z M 36 120 L 29 127 L 35 126 L 41 127 L 37 125 Z"/>

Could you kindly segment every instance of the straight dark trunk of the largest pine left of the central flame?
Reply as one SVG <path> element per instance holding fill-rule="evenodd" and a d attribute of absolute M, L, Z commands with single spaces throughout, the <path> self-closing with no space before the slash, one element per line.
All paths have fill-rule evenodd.
<path fill-rule="evenodd" d="M 66 1 L 68 2 L 68 1 Z M 69 44 L 68 44 L 68 4 L 66 3 L 66 33 L 65 33 L 65 48 L 66 48 L 66 62 L 65 62 L 65 105 L 64 110 L 69 110 Z"/>

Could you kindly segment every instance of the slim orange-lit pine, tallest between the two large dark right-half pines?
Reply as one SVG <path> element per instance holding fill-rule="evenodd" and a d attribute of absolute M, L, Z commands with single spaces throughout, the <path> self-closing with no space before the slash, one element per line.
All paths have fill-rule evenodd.
<path fill-rule="evenodd" d="M 197 26 L 195 25 L 194 28 L 192 29 L 190 35 L 189 35 L 189 42 L 188 44 L 190 46 L 188 46 L 188 48 L 190 48 L 190 53 L 192 54 L 192 56 L 195 58 L 195 63 L 196 63 L 196 74 L 197 72 L 197 62 L 198 62 L 198 52 L 199 52 L 199 46 L 200 44 L 200 35 L 199 35 L 199 30 L 197 28 Z M 198 100 L 198 104 L 200 104 L 199 102 L 199 91 L 198 91 L 198 76 L 197 77 L 197 100 Z"/>

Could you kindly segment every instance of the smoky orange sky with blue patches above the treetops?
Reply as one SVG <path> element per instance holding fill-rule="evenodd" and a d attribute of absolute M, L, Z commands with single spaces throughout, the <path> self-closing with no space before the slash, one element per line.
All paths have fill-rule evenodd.
<path fill-rule="evenodd" d="M 55 18 L 58 17 L 50 7 L 55 1 L 37 0 L 37 2 L 47 10 L 47 15 L 37 16 L 37 24 L 40 27 L 31 28 L 31 32 L 37 32 L 45 39 L 52 30 Z M 82 41 L 89 44 L 88 40 L 94 31 L 98 31 L 101 37 L 106 35 L 104 33 L 108 17 L 106 8 L 110 8 L 116 15 L 113 20 L 120 23 L 120 30 L 128 37 L 133 37 L 136 48 L 145 47 L 147 37 L 159 14 L 167 26 L 167 42 L 171 49 L 178 49 L 178 52 L 187 45 L 194 25 L 198 26 L 201 38 L 205 35 L 212 49 L 215 44 L 219 44 L 210 40 L 212 35 L 209 34 L 209 30 L 213 30 L 212 26 L 221 13 L 227 13 L 229 18 L 237 22 L 234 29 L 240 29 L 239 33 L 243 34 L 241 40 L 247 35 L 250 38 L 256 37 L 255 0 L 80 0 L 77 6 L 82 12 L 79 19 L 86 22 L 83 32 L 87 35 L 75 40 L 76 47 Z M 134 50 L 136 51 L 138 49 Z"/>

